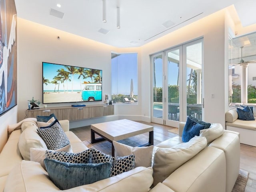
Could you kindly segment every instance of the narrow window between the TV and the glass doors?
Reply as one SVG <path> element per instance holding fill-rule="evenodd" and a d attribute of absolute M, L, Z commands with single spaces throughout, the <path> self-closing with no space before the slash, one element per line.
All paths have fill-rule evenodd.
<path fill-rule="evenodd" d="M 112 102 L 136 104 L 138 102 L 137 53 L 112 53 L 111 58 Z"/>

